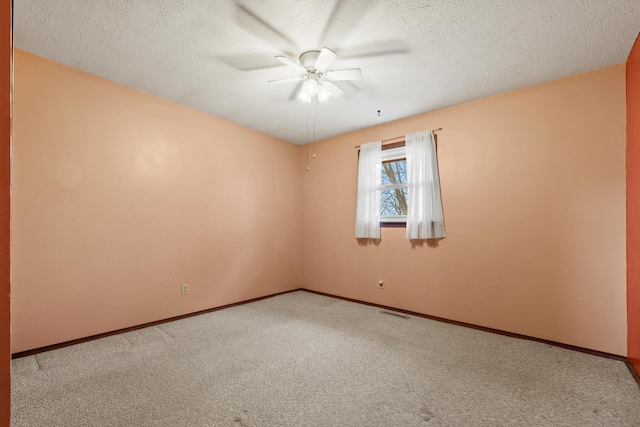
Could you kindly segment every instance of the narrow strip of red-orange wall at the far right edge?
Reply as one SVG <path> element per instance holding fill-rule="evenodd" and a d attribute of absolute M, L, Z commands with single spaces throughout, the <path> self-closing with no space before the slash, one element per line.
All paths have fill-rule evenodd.
<path fill-rule="evenodd" d="M 629 360 L 640 372 L 640 37 L 627 60 L 627 299 Z"/>

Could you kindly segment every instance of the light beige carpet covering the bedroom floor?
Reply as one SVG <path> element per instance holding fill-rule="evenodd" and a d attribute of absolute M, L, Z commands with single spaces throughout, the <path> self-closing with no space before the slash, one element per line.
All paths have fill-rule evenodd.
<path fill-rule="evenodd" d="M 13 361 L 18 426 L 640 426 L 623 362 L 304 291 Z"/>

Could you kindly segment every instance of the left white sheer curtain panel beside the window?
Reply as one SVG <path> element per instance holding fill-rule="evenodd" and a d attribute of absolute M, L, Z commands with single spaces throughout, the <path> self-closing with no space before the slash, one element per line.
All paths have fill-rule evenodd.
<path fill-rule="evenodd" d="M 382 142 L 360 146 L 356 237 L 380 238 L 380 185 L 382 185 Z"/>

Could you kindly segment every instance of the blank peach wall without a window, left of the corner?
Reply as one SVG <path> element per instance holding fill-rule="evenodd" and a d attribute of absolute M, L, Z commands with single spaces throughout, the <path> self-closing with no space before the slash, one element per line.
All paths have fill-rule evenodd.
<path fill-rule="evenodd" d="M 16 51 L 13 351 L 299 288 L 299 152 Z"/>

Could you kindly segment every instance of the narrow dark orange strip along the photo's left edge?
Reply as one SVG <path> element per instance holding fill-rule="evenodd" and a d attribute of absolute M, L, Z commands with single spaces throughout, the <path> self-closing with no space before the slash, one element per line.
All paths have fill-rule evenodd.
<path fill-rule="evenodd" d="M 11 418 L 11 68 L 12 2 L 0 8 L 0 425 Z"/>

